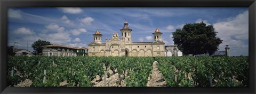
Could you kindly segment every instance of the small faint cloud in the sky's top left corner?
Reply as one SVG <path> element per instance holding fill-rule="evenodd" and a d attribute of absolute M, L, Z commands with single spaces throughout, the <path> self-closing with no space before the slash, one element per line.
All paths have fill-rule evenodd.
<path fill-rule="evenodd" d="M 13 9 L 13 8 L 10 8 L 8 10 L 8 17 L 21 19 L 22 18 L 21 11 Z"/>

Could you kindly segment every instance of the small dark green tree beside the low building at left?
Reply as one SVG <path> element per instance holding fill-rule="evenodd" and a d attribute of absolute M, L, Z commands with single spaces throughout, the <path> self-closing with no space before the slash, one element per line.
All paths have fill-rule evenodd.
<path fill-rule="evenodd" d="M 35 52 L 34 52 L 35 54 L 39 54 L 39 53 L 42 53 L 42 51 L 43 51 L 43 48 L 41 47 L 43 45 L 51 45 L 51 42 L 37 40 L 31 45 L 31 47 L 35 50 Z"/>

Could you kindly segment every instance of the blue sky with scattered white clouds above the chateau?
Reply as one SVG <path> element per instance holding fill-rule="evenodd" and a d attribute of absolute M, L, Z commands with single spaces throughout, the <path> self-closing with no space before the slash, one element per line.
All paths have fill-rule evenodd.
<path fill-rule="evenodd" d="M 165 45 L 174 45 L 172 32 L 186 23 L 213 25 L 223 40 L 219 50 L 229 45 L 230 55 L 249 54 L 249 12 L 247 7 L 33 7 L 9 8 L 8 45 L 34 51 L 31 44 L 38 39 L 52 44 L 87 47 L 97 29 L 102 42 L 129 23 L 133 42 L 152 42 L 156 28 Z"/>

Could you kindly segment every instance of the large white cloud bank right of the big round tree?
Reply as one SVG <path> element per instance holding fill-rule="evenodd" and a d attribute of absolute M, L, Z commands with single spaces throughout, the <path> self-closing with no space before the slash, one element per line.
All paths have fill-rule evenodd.
<path fill-rule="evenodd" d="M 217 37 L 223 40 L 220 50 L 229 45 L 230 55 L 249 55 L 249 12 L 245 11 L 235 17 L 227 18 L 213 24 Z"/>

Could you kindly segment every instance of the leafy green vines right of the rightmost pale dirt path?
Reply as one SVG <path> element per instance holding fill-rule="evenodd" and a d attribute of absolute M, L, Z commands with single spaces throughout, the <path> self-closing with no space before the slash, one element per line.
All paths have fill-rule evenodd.
<path fill-rule="evenodd" d="M 156 61 L 170 87 L 210 87 L 210 77 L 213 87 L 248 86 L 249 57 L 157 57 Z"/>

